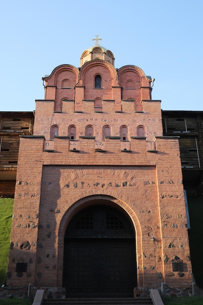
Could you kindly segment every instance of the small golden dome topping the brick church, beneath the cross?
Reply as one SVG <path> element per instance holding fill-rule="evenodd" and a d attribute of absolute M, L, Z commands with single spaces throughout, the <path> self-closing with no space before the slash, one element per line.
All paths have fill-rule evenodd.
<path fill-rule="evenodd" d="M 110 50 L 102 47 L 101 45 L 94 45 L 89 49 L 83 51 L 80 57 L 80 67 L 82 67 L 86 62 L 94 60 L 94 59 L 102 59 L 110 62 L 114 66 L 114 56 Z"/>

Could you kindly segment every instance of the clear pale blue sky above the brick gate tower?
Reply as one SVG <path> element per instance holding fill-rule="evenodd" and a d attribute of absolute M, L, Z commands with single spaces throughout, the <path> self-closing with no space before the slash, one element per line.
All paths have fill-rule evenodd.
<path fill-rule="evenodd" d="M 41 77 L 79 67 L 95 35 L 155 78 L 163 110 L 203 111 L 203 0 L 4 0 L 0 29 L 0 111 L 33 111 Z"/>

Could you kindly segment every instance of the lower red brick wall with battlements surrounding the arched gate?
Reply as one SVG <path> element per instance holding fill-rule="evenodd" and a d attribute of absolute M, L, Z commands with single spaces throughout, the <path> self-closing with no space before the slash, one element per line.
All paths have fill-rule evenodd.
<path fill-rule="evenodd" d="M 120 152 L 119 139 L 106 139 L 104 153 L 95 152 L 94 139 L 80 142 L 80 153 L 69 152 L 65 138 L 55 138 L 54 152 L 43 152 L 43 138 L 21 138 L 10 285 L 18 283 L 16 262 L 28 258 L 32 261 L 28 274 L 35 285 L 62 285 L 64 219 L 70 217 L 71 206 L 89 196 L 111 196 L 132 218 L 139 286 L 159 286 L 163 281 L 170 286 L 188 285 L 191 266 L 178 139 L 157 138 L 158 152 L 147 152 L 143 139 L 131 139 L 131 153 Z M 19 249 L 25 241 L 30 249 Z M 172 272 L 174 256 L 185 263 L 184 277 Z M 28 284 L 31 278 L 21 281 Z"/>

